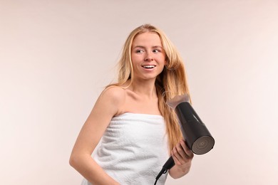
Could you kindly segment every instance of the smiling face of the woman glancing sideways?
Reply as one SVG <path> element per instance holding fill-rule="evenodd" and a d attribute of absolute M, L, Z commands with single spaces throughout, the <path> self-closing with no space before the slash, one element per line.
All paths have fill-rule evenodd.
<path fill-rule="evenodd" d="M 131 60 L 135 79 L 155 79 L 165 65 L 165 51 L 157 33 L 140 33 L 131 46 Z"/>

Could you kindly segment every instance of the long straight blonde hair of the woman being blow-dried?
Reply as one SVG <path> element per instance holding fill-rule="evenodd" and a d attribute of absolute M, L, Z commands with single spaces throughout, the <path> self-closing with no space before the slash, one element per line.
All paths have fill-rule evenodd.
<path fill-rule="evenodd" d="M 169 149 L 173 149 L 175 144 L 182 139 L 182 133 L 180 132 L 175 112 L 166 105 L 166 102 L 175 97 L 175 95 L 187 93 L 190 96 L 190 92 L 187 85 L 185 67 L 180 54 L 163 31 L 150 24 L 144 24 L 135 28 L 130 33 L 125 41 L 122 56 L 118 62 L 118 83 L 112 85 L 121 86 L 128 80 L 130 80 L 130 84 L 133 82 L 131 46 L 134 38 L 140 33 L 145 32 L 157 33 L 165 51 L 166 64 L 163 72 L 155 80 L 155 88 L 158 93 L 158 107 L 166 122 Z"/>

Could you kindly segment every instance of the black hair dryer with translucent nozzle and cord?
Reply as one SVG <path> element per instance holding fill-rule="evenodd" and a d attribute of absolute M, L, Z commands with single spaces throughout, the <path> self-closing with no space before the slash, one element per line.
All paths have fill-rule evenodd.
<path fill-rule="evenodd" d="M 185 139 L 187 147 L 189 147 L 194 154 L 205 154 L 209 152 L 215 145 L 215 139 L 213 139 L 209 130 L 205 127 L 205 124 L 190 105 L 188 95 L 177 95 L 166 103 L 175 110 L 182 137 Z M 159 177 L 165 174 L 168 169 L 171 169 L 174 165 L 174 159 L 170 157 L 155 178 L 155 184 Z"/>

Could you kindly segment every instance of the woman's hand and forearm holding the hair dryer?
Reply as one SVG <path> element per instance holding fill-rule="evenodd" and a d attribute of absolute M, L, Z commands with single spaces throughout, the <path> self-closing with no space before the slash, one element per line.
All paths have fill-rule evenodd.
<path fill-rule="evenodd" d="M 185 176 L 190 171 L 191 162 L 194 157 L 194 154 L 186 146 L 185 141 L 181 140 L 176 144 L 171 152 L 171 156 L 174 159 L 175 166 L 169 170 L 170 176 L 173 179 Z"/>

